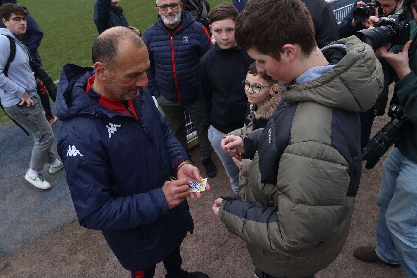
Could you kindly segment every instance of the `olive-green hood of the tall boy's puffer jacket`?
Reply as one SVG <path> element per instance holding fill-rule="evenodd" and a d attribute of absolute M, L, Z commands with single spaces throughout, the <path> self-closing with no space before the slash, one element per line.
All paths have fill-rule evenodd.
<path fill-rule="evenodd" d="M 345 46 L 343 51 L 340 45 Z M 339 53 L 335 53 L 338 49 Z M 372 48 L 351 36 L 331 43 L 322 48 L 322 52 L 330 63 L 340 61 L 312 81 L 286 85 L 281 92 L 282 99 L 289 102 L 314 101 L 349 111 L 371 109 L 384 81 L 382 66 Z"/>

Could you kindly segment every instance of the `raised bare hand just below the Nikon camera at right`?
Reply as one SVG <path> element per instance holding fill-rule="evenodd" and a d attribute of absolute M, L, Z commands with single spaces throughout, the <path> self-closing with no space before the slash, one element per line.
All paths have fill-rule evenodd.
<path fill-rule="evenodd" d="M 408 65 L 408 50 L 411 43 L 412 40 L 407 41 L 407 43 L 402 48 L 402 52 L 398 54 L 394 54 L 391 51 L 388 51 L 387 49 L 389 49 L 389 45 L 385 45 L 375 52 L 377 56 L 387 60 L 387 62 L 394 68 L 399 79 L 404 78 L 404 76 L 411 72 L 410 66 Z"/>

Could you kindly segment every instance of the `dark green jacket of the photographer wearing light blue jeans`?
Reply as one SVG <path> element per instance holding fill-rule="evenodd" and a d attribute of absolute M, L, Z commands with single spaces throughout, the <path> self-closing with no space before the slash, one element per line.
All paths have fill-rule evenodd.
<path fill-rule="evenodd" d="M 413 40 L 413 43 L 417 43 L 417 24 L 413 20 L 410 25 L 410 39 Z M 396 45 L 392 48 L 392 52 L 399 53 L 402 51 L 402 47 L 403 45 Z M 404 108 L 404 115 L 410 120 L 395 147 L 406 157 L 417 162 L 417 53 L 409 61 L 409 66 L 412 72 L 397 81 L 394 87 L 394 93 L 397 94 L 398 100 Z"/>

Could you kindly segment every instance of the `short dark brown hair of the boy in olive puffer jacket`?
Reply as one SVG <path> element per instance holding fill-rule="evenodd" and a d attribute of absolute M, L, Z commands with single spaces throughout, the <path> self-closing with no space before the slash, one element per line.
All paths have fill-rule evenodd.
<path fill-rule="evenodd" d="M 304 56 L 317 47 L 313 20 L 301 0 L 248 1 L 236 20 L 235 38 L 241 48 L 277 61 L 287 43 L 298 44 Z"/>

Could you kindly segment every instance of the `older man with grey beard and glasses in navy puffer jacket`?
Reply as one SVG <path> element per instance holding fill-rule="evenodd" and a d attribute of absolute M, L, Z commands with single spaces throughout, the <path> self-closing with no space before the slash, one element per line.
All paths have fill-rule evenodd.
<path fill-rule="evenodd" d="M 149 51 L 148 89 L 156 97 L 178 141 L 188 154 L 184 111 L 191 116 L 200 143 L 200 155 L 208 177 L 216 175 L 211 160 L 213 147 L 203 127 L 199 96 L 200 58 L 211 47 L 208 30 L 191 13 L 183 11 L 179 0 L 157 0 L 160 18 L 146 29 L 143 40 Z M 189 156 L 189 154 L 188 154 Z"/>

